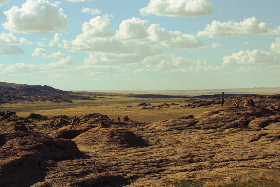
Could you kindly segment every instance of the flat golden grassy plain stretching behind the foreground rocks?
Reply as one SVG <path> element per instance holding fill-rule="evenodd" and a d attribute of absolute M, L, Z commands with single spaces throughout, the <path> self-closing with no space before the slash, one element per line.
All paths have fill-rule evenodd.
<path fill-rule="evenodd" d="M 111 119 L 121 119 L 127 115 L 129 119 L 138 122 L 157 122 L 161 120 L 169 120 L 182 116 L 197 116 L 202 112 L 215 110 L 219 105 L 213 105 L 209 108 L 189 108 L 180 107 L 187 105 L 183 102 L 185 98 L 133 98 L 123 94 L 121 96 L 112 96 L 110 98 L 97 98 L 96 101 L 73 100 L 74 103 L 50 103 L 50 102 L 24 102 L 1 104 L 1 111 L 15 111 L 18 116 L 27 116 L 30 113 L 38 113 L 44 116 L 68 115 L 85 115 L 88 113 L 106 114 Z M 142 110 L 143 107 L 129 108 L 127 106 L 136 106 L 139 103 L 151 103 L 152 105 L 161 105 L 163 103 L 177 103 L 179 105 L 170 105 L 170 108 L 158 108 Z M 150 106 L 147 106 L 150 107 Z M 178 109 L 177 109 L 178 108 Z"/>

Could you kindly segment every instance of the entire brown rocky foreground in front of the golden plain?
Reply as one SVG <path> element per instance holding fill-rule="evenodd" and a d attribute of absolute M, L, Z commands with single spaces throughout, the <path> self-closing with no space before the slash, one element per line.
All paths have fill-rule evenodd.
<path fill-rule="evenodd" d="M 280 114 L 223 108 L 153 124 L 102 114 L 0 121 L 0 186 L 172 186 L 279 180 Z"/>

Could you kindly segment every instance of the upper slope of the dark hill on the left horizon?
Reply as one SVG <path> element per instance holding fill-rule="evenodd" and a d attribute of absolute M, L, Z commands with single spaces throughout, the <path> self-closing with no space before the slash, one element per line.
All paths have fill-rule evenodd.
<path fill-rule="evenodd" d="M 62 90 L 55 89 L 51 86 L 41 85 L 28 85 L 28 84 L 15 84 L 8 82 L 0 82 L 0 90 L 22 90 L 22 91 L 34 91 L 34 92 L 63 92 Z"/>

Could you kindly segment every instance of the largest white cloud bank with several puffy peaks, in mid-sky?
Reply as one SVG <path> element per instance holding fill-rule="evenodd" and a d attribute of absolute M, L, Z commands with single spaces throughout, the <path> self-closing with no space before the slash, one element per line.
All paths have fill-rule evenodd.
<path fill-rule="evenodd" d="M 111 20 L 97 16 L 83 24 L 83 33 L 70 41 L 62 40 L 60 47 L 71 51 L 96 51 L 152 56 L 168 48 L 206 47 L 196 36 L 179 31 L 166 32 L 160 25 L 131 18 L 122 21 L 115 34 L 109 30 Z"/>

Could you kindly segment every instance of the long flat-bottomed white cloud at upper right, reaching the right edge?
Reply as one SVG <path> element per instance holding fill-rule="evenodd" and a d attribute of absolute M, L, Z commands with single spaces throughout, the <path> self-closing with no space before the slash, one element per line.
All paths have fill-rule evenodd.
<path fill-rule="evenodd" d="M 267 24 L 260 22 L 257 18 L 252 17 L 244 19 L 241 22 L 220 22 L 214 20 L 211 25 L 207 25 L 203 31 L 197 32 L 198 37 L 218 38 L 218 37 L 233 37 L 240 34 L 262 34 L 275 35 L 280 34 L 280 26 L 275 30 L 267 28 Z"/>

